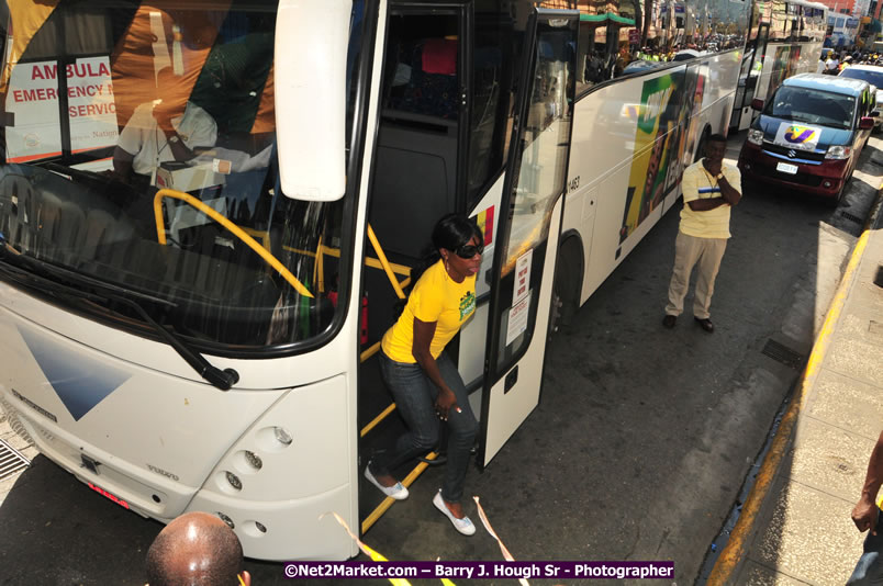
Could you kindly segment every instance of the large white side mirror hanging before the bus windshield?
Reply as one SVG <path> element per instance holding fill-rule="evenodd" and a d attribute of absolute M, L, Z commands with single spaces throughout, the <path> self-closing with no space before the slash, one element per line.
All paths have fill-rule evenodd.
<path fill-rule="evenodd" d="M 346 189 L 346 57 L 351 0 L 281 0 L 273 84 L 279 181 L 288 198 Z"/>

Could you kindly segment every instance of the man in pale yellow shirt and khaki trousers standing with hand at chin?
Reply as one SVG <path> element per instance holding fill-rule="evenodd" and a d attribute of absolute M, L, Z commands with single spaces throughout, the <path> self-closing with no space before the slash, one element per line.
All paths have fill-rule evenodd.
<path fill-rule="evenodd" d="M 711 334 L 709 308 L 714 280 L 729 238 L 729 210 L 741 199 L 739 170 L 724 165 L 727 139 L 713 134 L 705 143 L 705 158 L 684 170 L 681 185 L 684 209 L 674 241 L 674 270 L 669 284 L 669 303 L 662 325 L 671 329 L 684 308 L 690 273 L 698 264 L 693 300 L 693 318 Z"/>

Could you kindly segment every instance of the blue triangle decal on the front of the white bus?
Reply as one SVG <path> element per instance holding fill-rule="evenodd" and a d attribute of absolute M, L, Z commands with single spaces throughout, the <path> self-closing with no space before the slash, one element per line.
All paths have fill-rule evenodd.
<path fill-rule="evenodd" d="M 71 354 L 42 334 L 23 328 L 19 333 L 75 421 L 132 376 L 82 354 Z"/>

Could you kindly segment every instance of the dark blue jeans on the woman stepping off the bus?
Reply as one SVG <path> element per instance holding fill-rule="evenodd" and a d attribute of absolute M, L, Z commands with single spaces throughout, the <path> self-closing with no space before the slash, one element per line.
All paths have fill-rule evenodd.
<path fill-rule="evenodd" d="M 469 466 L 469 452 L 478 433 L 478 422 L 469 406 L 469 394 L 457 372 L 457 367 L 444 351 L 436 359 L 438 371 L 457 397 L 456 409 L 448 413 L 448 463 L 442 498 L 459 503 L 463 496 L 463 481 Z M 380 373 L 395 399 L 395 406 L 407 425 L 407 431 L 399 437 L 390 450 L 379 451 L 369 465 L 373 474 L 391 474 L 405 462 L 426 454 L 438 443 L 442 421 L 435 413 L 438 387 L 426 376 L 420 364 L 395 362 L 380 352 Z"/>

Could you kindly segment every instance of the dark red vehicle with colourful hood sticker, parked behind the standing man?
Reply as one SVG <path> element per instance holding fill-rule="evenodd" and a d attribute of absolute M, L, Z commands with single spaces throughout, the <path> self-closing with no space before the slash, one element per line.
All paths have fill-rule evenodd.
<path fill-rule="evenodd" d="M 874 126 L 875 88 L 860 79 L 801 74 L 765 102 L 739 154 L 742 181 L 837 203 Z"/>

